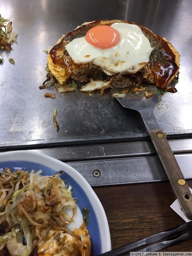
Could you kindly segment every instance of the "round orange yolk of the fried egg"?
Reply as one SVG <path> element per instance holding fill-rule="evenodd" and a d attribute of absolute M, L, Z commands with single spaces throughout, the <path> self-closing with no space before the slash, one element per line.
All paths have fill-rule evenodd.
<path fill-rule="evenodd" d="M 87 43 L 100 49 L 108 49 L 116 46 L 120 41 L 119 32 L 109 26 L 96 26 L 87 32 Z"/>

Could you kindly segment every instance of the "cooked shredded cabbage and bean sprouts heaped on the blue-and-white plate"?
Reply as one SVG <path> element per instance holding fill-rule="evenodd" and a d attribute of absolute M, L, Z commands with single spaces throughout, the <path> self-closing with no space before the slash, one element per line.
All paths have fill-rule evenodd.
<path fill-rule="evenodd" d="M 41 173 L 11 172 L 9 168 L 0 172 L 0 224 L 7 221 L 11 229 L 0 236 L 0 250 L 7 246 L 12 256 L 30 255 L 33 241 L 38 240 L 37 227 L 68 230 L 66 225 L 74 221 L 75 216 L 65 211 L 74 209 L 75 213 L 77 199 L 73 198 L 72 187 L 60 178 L 62 172 L 52 177 Z M 23 237 L 27 245 L 22 243 Z"/>

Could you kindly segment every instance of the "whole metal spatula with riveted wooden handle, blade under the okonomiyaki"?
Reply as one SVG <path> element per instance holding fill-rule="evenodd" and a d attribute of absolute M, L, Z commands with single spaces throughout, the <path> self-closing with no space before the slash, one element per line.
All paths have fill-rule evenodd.
<path fill-rule="evenodd" d="M 179 200 L 181 209 L 185 216 L 189 220 L 192 220 L 192 195 L 190 189 L 154 114 L 154 108 L 160 102 L 156 87 L 151 85 L 145 87 L 127 87 L 123 89 L 112 89 L 110 91 L 112 96 L 115 97 L 123 107 L 137 110 L 142 116 L 157 154 Z M 146 96 L 151 97 L 147 98 Z"/>

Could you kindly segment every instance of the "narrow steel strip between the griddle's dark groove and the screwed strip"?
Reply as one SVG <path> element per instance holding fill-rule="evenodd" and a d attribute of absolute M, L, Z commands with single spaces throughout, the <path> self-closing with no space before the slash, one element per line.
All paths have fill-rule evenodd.
<path fill-rule="evenodd" d="M 168 140 L 174 154 L 192 153 L 192 139 Z M 32 149 L 32 151 L 52 156 L 61 161 L 109 159 L 157 155 L 153 143 L 149 141 L 91 144 L 81 146 L 55 146 Z"/>

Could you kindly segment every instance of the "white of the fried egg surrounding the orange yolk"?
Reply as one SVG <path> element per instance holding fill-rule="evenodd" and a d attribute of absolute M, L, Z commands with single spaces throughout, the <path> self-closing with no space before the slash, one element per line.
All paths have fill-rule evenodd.
<path fill-rule="evenodd" d="M 93 63 L 107 75 L 136 73 L 149 61 L 153 50 L 148 38 L 134 24 L 114 23 L 120 34 L 120 42 L 109 49 L 99 49 L 89 44 L 85 36 L 76 38 L 66 45 L 66 50 L 77 64 Z"/>

